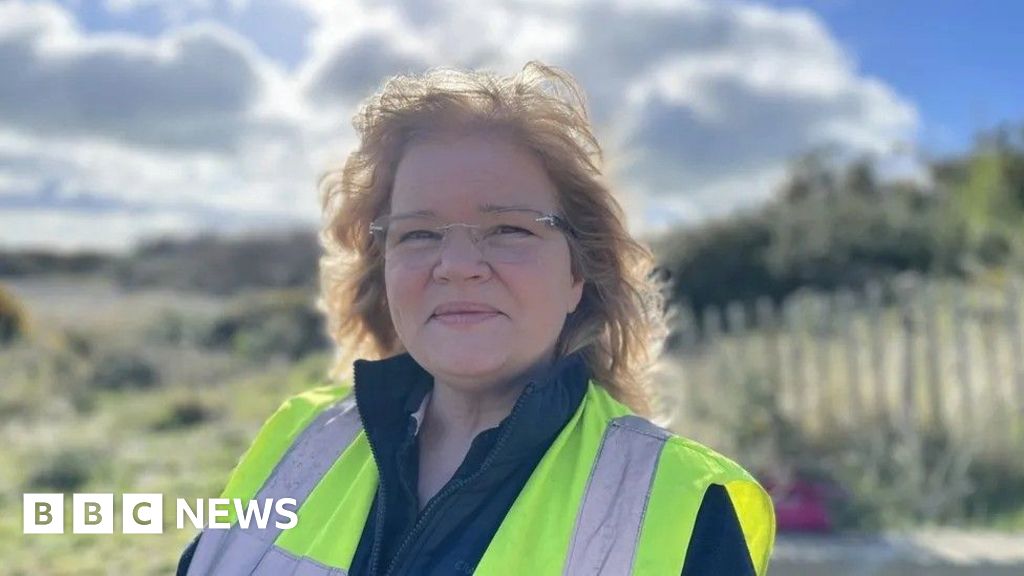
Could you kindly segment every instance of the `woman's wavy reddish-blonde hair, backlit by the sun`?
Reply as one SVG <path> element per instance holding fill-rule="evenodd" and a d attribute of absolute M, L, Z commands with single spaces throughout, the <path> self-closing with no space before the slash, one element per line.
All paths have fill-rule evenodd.
<path fill-rule="evenodd" d="M 650 251 L 628 232 L 602 173 L 586 101 L 565 71 L 530 61 L 512 76 L 433 69 L 388 79 L 353 118 L 358 147 L 319 182 L 321 297 L 338 345 L 332 373 L 358 357 L 402 352 L 384 289 L 383 256 L 370 223 L 389 209 L 395 170 L 411 142 L 452 130 L 501 133 L 543 163 L 574 234 L 572 273 L 583 298 L 557 354 L 581 352 L 594 380 L 636 412 L 649 413 L 648 369 L 665 336 Z"/>

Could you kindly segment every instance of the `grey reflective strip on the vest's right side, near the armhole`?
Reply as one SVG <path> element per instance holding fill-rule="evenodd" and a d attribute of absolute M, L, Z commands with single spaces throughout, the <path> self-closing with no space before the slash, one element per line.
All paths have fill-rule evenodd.
<path fill-rule="evenodd" d="M 608 423 L 580 504 L 566 576 L 633 573 L 651 482 L 670 436 L 639 416 Z"/>

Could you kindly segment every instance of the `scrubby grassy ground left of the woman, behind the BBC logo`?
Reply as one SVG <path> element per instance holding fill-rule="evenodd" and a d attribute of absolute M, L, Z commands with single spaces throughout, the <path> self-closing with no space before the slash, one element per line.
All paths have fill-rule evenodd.
<path fill-rule="evenodd" d="M 172 573 L 196 532 L 177 530 L 174 499 L 216 496 L 265 418 L 322 381 L 327 354 L 259 359 L 161 334 L 175 315 L 214 321 L 227 299 L 102 281 L 10 288 L 31 333 L 0 351 L 0 574 Z M 116 534 L 71 534 L 69 496 L 66 534 L 24 535 L 29 492 L 113 492 Z M 165 495 L 162 535 L 117 534 L 125 492 Z"/>

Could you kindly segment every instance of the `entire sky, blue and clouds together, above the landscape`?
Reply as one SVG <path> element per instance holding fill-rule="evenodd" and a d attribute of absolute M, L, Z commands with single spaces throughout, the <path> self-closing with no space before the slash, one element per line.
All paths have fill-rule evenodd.
<path fill-rule="evenodd" d="M 900 173 L 1024 120 L 1019 3 L 0 2 L 0 248 L 310 227 L 385 78 L 572 73 L 640 232 L 764 201 L 830 146 Z"/>

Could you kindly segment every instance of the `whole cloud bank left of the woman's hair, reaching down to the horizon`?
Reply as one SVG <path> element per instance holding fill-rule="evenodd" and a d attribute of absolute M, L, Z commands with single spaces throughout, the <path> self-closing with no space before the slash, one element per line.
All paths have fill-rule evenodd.
<path fill-rule="evenodd" d="M 124 248 L 315 217 L 316 132 L 245 38 L 88 35 L 38 3 L 0 5 L 0 243 Z"/>

